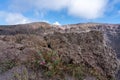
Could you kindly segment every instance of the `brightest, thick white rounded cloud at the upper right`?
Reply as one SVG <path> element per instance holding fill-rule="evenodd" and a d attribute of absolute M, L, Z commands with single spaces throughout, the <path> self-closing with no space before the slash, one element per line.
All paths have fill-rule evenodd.
<path fill-rule="evenodd" d="M 71 0 L 68 12 L 76 17 L 96 19 L 104 14 L 107 0 Z"/>

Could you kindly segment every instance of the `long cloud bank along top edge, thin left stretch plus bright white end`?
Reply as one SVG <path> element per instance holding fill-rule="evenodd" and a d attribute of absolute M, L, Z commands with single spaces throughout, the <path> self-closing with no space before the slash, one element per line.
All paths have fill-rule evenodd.
<path fill-rule="evenodd" d="M 108 0 L 13 0 L 12 8 L 18 10 L 38 9 L 60 11 L 67 9 L 72 16 L 85 19 L 101 17 Z"/>

